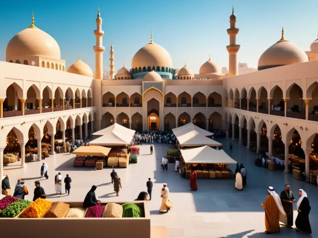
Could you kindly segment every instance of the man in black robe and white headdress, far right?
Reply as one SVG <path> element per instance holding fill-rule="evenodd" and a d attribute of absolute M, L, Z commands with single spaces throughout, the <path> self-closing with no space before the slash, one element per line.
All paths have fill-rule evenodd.
<path fill-rule="evenodd" d="M 295 225 L 299 231 L 311 234 L 311 227 L 309 223 L 309 212 L 311 207 L 309 205 L 307 193 L 304 190 L 299 189 L 299 196 L 300 199 L 297 202 L 298 215 Z"/>

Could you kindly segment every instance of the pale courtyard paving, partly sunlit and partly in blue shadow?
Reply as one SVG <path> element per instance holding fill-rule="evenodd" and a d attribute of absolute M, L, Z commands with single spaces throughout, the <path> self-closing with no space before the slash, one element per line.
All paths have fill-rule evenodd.
<path fill-rule="evenodd" d="M 122 190 L 116 197 L 110 178 L 112 168 L 95 171 L 94 168 L 73 167 L 74 155 L 56 154 L 46 158 L 49 166 L 49 179 L 39 178 L 42 162 L 29 162 L 23 169 L 4 170 L 9 176 L 11 188 L 14 188 L 18 178 L 25 180 L 30 194 L 25 199 L 32 200 L 34 181 L 39 180 L 41 186 L 51 201 L 83 201 L 92 185 L 96 185 L 96 197 L 105 202 L 127 202 L 137 198 L 141 191 L 147 191 L 148 178 L 154 182 L 152 200 L 149 201 L 151 224 L 166 226 L 168 237 L 266 237 L 264 234 L 264 209 L 261 203 L 265 201 L 267 187 L 273 186 L 278 194 L 286 183 L 298 200 L 298 189 L 304 189 L 311 205 L 309 219 L 313 231 L 312 237 L 318 234 L 315 226 L 318 215 L 318 188 L 313 184 L 300 182 L 290 174 L 282 171 L 269 171 L 254 165 L 255 153 L 250 152 L 237 141 L 217 139 L 223 144 L 223 149 L 234 160 L 243 163 L 247 170 L 247 186 L 243 191 L 237 191 L 232 179 L 199 179 L 198 190 L 190 191 L 189 180 L 181 178 L 174 171 L 174 164 L 169 164 L 168 171 L 160 170 L 161 158 L 166 155 L 166 144 L 154 144 L 154 153 L 150 155 L 150 145 L 140 146 L 140 156 L 137 164 L 128 168 L 115 168 L 121 178 Z M 233 149 L 229 149 L 229 143 Z M 231 166 L 235 170 L 235 165 Z M 66 174 L 72 178 L 71 194 L 61 197 L 55 194 L 54 175 L 61 172 L 63 179 Z M 160 189 L 162 183 L 169 187 L 169 200 L 173 208 L 169 213 L 160 214 Z M 63 186 L 64 187 L 64 186 Z M 13 191 L 12 191 L 13 192 Z M 3 197 L 3 195 L 0 195 Z M 294 220 L 297 216 L 294 206 Z M 296 232 L 294 229 L 281 228 L 275 237 L 311 237 Z"/>

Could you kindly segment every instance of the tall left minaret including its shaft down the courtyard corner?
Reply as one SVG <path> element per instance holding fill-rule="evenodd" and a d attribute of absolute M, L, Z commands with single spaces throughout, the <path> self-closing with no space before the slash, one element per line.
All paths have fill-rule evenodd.
<path fill-rule="evenodd" d="M 101 129 L 101 81 L 103 79 L 103 52 L 105 47 L 103 46 L 103 35 L 104 31 L 101 30 L 102 19 L 100 18 L 100 12 L 98 7 L 98 14 L 96 18 L 97 30 L 94 30 L 94 35 L 96 36 L 96 45 L 94 46 L 95 51 L 95 78 L 93 80 L 93 106 L 97 107 L 96 120 L 94 121 L 93 131 L 98 131 Z"/>

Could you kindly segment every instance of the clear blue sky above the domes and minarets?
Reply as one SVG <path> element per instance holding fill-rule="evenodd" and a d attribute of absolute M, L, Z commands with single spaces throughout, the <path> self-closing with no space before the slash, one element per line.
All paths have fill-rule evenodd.
<path fill-rule="evenodd" d="M 305 51 L 317 38 L 317 0 L 5 0 L 0 2 L 0 60 L 5 61 L 10 39 L 31 24 L 34 11 L 35 25 L 59 43 L 67 67 L 77 61 L 80 53 L 82 61 L 95 71 L 93 30 L 100 6 L 107 70 L 111 42 L 115 69 L 123 62 L 130 68 L 135 52 L 149 43 L 151 29 L 154 42 L 170 53 L 174 68 L 186 62 L 192 73 L 197 73 L 211 54 L 211 60 L 221 69 L 228 67 L 226 29 L 232 4 L 240 29 L 238 61 L 249 67 L 256 68 L 259 56 L 280 39 L 282 26 L 285 38 Z"/>

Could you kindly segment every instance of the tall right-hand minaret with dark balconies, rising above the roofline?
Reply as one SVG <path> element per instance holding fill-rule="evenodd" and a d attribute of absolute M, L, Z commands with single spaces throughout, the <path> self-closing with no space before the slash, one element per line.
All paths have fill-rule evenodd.
<path fill-rule="evenodd" d="M 239 28 L 236 28 L 236 15 L 234 7 L 232 7 L 232 15 L 230 16 L 230 28 L 227 29 L 227 34 L 230 36 L 230 45 L 226 46 L 229 52 L 229 77 L 238 75 L 237 53 L 240 45 L 236 44 L 236 35 L 239 33 Z"/>

